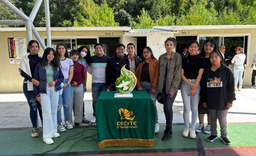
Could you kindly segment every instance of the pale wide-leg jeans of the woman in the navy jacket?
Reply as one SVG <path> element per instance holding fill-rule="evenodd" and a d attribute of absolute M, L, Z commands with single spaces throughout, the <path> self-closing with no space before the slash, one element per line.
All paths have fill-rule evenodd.
<path fill-rule="evenodd" d="M 46 87 L 46 93 L 39 93 L 42 105 L 44 121 L 43 138 L 52 138 L 57 132 L 57 108 L 59 101 L 59 91 L 55 87 Z"/>

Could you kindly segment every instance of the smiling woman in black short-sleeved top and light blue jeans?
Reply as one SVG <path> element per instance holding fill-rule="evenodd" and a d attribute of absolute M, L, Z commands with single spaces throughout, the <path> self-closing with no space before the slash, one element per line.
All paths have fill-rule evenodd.
<path fill-rule="evenodd" d="M 181 69 L 181 95 L 183 100 L 183 119 L 185 129 L 183 136 L 195 138 L 195 124 L 198 116 L 198 102 L 200 93 L 200 80 L 203 74 L 205 61 L 201 56 L 196 55 L 199 43 L 196 40 L 191 40 L 188 43 L 189 54 L 182 58 Z M 191 127 L 190 127 L 190 110 L 192 112 Z"/>

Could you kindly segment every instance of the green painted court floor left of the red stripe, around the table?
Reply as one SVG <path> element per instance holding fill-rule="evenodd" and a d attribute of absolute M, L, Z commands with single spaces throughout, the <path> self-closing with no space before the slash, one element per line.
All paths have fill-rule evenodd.
<path fill-rule="evenodd" d="M 95 129 L 95 130 L 93 130 Z M 83 129 L 67 129 L 65 132 L 59 132 L 60 137 L 53 138 L 54 144 L 47 145 L 43 142 L 43 132 L 39 131 L 38 137 L 31 137 L 30 130 L 15 130 L 15 131 L 0 131 L 0 153 L 1 154 L 34 154 L 34 153 L 43 153 L 49 151 L 59 145 L 65 138 L 72 136 L 76 133 L 81 132 Z M 155 145 L 152 147 L 141 147 L 141 146 L 124 146 L 124 147 L 105 147 L 99 151 L 108 151 L 108 150 L 132 150 L 132 149 L 169 149 L 169 148 L 196 148 L 194 139 L 185 138 L 182 136 L 183 126 L 173 126 L 173 137 L 167 141 L 162 141 L 163 131 L 165 126 L 160 126 L 160 132 L 155 135 Z M 60 147 L 50 153 L 60 153 L 67 152 L 71 145 L 76 141 L 86 137 L 96 134 L 96 128 L 90 128 L 84 132 L 82 137 L 77 139 L 68 140 L 64 142 Z M 97 138 L 97 135 L 93 136 Z M 74 137 L 73 137 L 74 138 Z M 85 140 L 92 140 L 92 138 L 87 138 Z M 36 145 L 36 146 L 34 146 Z M 15 148 L 13 148 L 15 147 Z M 37 147 L 37 148 L 35 148 Z M 98 150 L 98 143 L 96 141 L 80 141 L 76 143 L 69 152 L 77 151 L 96 151 Z"/>

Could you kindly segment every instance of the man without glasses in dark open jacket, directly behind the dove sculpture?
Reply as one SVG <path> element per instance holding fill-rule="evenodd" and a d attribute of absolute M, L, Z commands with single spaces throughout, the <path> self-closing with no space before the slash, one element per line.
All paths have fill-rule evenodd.
<path fill-rule="evenodd" d="M 135 71 L 136 71 L 136 68 L 138 67 L 139 62 L 142 61 L 142 59 L 139 56 L 135 55 L 136 49 L 135 49 L 135 45 L 133 43 L 127 44 L 126 51 L 127 51 L 128 55 L 126 55 L 124 58 L 122 58 L 119 61 L 117 71 L 116 71 L 116 78 L 120 77 L 121 68 L 125 64 L 126 64 L 125 68 L 135 74 Z M 135 87 L 134 90 L 137 90 L 137 87 Z"/>

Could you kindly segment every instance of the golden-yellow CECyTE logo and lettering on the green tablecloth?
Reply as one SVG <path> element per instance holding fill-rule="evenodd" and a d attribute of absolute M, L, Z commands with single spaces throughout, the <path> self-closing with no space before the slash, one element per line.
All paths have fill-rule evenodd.
<path fill-rule="evenodd" d="M 120 108 L 119 109 L 119 115 L 120 119 L 127 119 L 130 121 L 118 121 L 116 123 L 116 128 L 137 128 L 137 121 L 133 121 L 135 118 L 135 115 L 133 115 L 133 112 L 128 111 L 127 109 Z"/>

